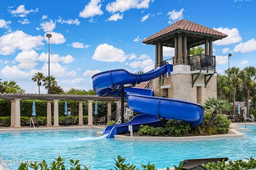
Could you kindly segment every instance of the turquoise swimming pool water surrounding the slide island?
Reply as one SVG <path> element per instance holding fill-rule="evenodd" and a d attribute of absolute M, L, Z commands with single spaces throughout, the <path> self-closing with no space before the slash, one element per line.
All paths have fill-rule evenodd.
<path fill-rule="evenodd" d="M 116 141 L 96 137 L 97 129 L 16 131 L 0 134 L 0 155 L 4 160 L 46 160 L 48 164 L 59 155 L 79 159 L 90 170 L 109 170 L 121 155 L 126 163 L 142 169 L 140 164 L 155 164 L 156 168 L 178 165 L 193 158 L 228 157 L 230 160 L 256 158 L 256 126 L 247 125 L 245 138 L 195 142 Z M 18 164 L 9 164 L 12 170 Z"/>

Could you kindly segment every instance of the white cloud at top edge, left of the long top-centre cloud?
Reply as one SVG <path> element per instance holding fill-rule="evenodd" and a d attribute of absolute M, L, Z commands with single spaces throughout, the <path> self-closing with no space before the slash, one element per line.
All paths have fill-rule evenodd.
<path fill-rule="evenodd" d="M 103 11 L 100 9 L 102 4 L 100 0 L 91 0 L 79 13 L 79 16 L 82 18 L 94 17 L 96 15 L 102 15 Z"/>

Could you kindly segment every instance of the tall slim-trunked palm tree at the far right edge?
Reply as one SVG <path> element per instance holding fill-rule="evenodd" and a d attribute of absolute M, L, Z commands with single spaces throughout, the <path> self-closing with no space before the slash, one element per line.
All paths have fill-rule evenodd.
<path fill-rule="evenodd" d="M 256 68 L 254 66 L 245 67 L 240 72 L 240 77 L 243 80 L 244 88 L 246 88 L 245 103 L 246 103 L 246 111 L 247 111 L 247 116 L 248 116 L 249 115 L 250 87 L 252 87 L 255 84 L 254 80 L 256 79 Z"/>

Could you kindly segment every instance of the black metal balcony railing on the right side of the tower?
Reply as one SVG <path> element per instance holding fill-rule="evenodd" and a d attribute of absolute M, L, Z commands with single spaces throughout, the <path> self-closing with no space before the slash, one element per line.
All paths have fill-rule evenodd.
<path fill-rule="evenodd" d="M 206 70 L 216 72 L 216 59 L 213 55 L 193 55 L 188 57 L 188 64 L 191 66 L 191 71 L 193 70 Z"/>

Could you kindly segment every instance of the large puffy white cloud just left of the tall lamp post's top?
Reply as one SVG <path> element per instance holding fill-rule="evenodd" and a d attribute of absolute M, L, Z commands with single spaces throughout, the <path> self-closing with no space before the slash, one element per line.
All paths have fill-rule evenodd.
<path fill-rule="evenodd" d="M 15 41 L 13 41 L 15 39 Z M 44 43 L 41 35 L 31 36 L 23 31 L 15 31 L 0 37 L 0 54 L 10 55 L 17 50 L 31 51 L 32 49 L 40 49 Z"/>

